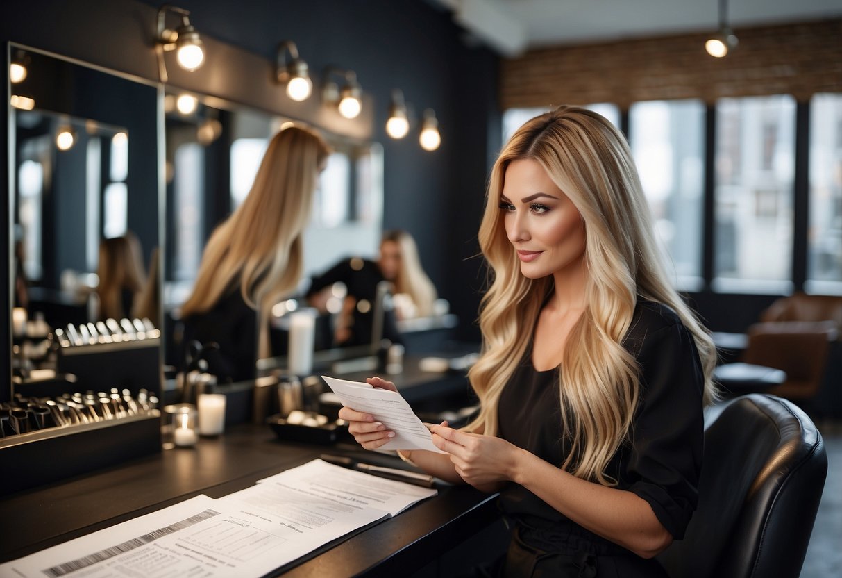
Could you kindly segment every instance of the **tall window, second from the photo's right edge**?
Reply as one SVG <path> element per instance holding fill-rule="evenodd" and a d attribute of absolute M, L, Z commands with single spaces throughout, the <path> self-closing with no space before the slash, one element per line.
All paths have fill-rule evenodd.
<path fill-rule="evenodd" d="M 713 288 L 792 290 L 795 99 L 720 99 L 715 143 Z"/>

